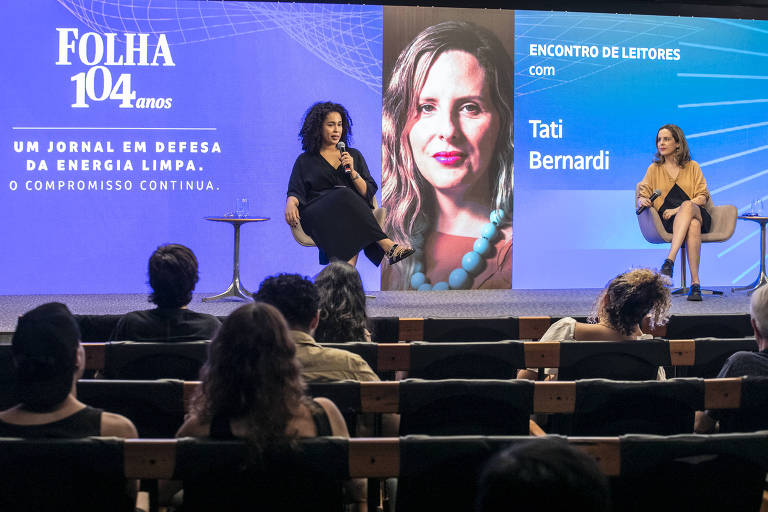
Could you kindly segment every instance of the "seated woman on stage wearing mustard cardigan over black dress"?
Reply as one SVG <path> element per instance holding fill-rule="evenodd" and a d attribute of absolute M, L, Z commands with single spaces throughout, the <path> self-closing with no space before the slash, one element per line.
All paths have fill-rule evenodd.
<path fill-rule="evenodd" d="M 651 195 L 656 190 L 661 195 L 651 203 Z M 677 251 L 685 244 L 691 271 L 688 300 L 692 301 L 701 300 L 701 234 L 708 233 L 712 226 L 712 217 L 704 208 L 709 197 L 707 180 L 699 164 L 691 159 L 683 130 L 674 124 L 665 124 L 656 132 L 656 158 L 638 184 L 636 206 L 656 208 L 664 229 L 672 233 L 667 259 L 661 266 L 662 274 L 672 277 Z"/>

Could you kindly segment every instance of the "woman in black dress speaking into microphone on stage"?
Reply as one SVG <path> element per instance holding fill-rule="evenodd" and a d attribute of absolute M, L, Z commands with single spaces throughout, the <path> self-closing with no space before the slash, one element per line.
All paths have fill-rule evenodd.
<path fill-rule="evenodd" d="M 301 223 L 320 249 L 320 263 L 357 263 L 361 250 L 374 265 L 390 264 L 413 249 L 396 244 L 373 216 L 378 186 L 362 153 L 349 147 L 352 120 L 338 103 L 319 102 L 304 116 L 299 137 L 304 151 L 293 164 L 285 202 L 285 221 Z M 343 144 L 343 146 L 341 146 Z"/>

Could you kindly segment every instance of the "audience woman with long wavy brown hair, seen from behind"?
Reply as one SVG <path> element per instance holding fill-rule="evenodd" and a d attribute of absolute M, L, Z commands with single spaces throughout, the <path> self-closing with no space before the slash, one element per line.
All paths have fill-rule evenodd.
<path fill-rule="evenodd" d="M 282 315 L 269 304 L 246 304 L 227 317 L 200 376 L 177 437 L 244 439 L 259 451 L 300 438 L 349 437 L 333 402 L 305 394 L 296 345 Z M 351 501 L 365 501 L 361 482 L 349 488 Z"/>

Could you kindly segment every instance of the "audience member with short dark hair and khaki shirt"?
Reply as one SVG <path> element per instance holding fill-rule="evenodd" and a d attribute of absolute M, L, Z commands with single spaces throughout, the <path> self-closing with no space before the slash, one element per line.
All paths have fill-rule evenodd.
<path fill-rule="evenodd" d="M 307 381 L 379 380 L 359 355 L 322 347 L 315 341 L 313 334 L 320 319 L 320 294 L 309 279 L 298 274 L 268 277 L 262 281 L 254 299 L 275 306 L 285 317 Z"/>

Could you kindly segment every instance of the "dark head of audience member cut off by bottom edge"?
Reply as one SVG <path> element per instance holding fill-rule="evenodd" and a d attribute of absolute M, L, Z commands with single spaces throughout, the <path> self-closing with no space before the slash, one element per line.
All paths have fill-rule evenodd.
<path fill-rule="evenodd" d="M 480 476 L 476 512 L 610 510 L 608 479 L 586 454 L 552 439 L 494 456 Z"/>

